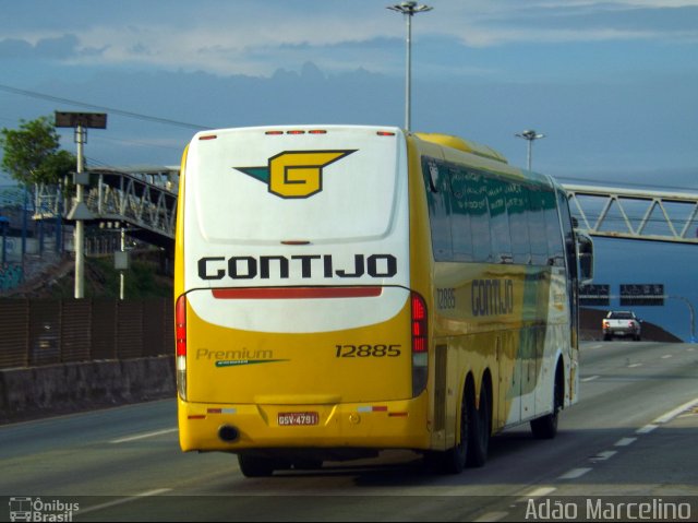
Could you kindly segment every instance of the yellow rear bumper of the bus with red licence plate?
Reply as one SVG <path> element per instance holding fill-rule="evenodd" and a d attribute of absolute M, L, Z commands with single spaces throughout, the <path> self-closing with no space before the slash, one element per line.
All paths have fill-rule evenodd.
<path fill-rule="evenodd" d="M 425 393 L 405 401 L 334 405 L 220 405 L 179 399 L 178 416 L 183 451 L 425 450 L 431 441 Z M 226 441 L 230 435 L 234 441 Z"/>

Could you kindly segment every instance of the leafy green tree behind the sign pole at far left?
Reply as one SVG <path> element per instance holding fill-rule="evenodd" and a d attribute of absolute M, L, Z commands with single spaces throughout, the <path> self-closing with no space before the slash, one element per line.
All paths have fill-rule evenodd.
<path fill-rule="evenodd" d="M 58 183 L 75 169 L 75 155 L 61 151 L 60 136 L 49 117 L 20 120 L 20 129 L 2 129 L 2 169 L 23 185 Z"/>

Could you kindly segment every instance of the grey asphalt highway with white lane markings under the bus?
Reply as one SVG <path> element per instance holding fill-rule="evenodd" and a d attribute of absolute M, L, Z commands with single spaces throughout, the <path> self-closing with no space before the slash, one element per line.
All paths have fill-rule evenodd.
<path fill-rule="evenodd" d="M 521 521 L 573 497 L 683 500 L 697 521 L 698 346 L 590 343 L 581 358 L 557 438 L 508 430 L 457 476 L 393 451 L 248 479 L 233 455 L 179 450 L 174 400 L 2 426 L 0 519 L 31 498 L 72 521 Z"/>

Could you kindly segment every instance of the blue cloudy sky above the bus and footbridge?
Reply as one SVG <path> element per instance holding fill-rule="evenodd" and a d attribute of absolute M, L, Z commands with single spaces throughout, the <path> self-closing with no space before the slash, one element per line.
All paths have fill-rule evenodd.
<path fill-rule="evenodd" d="M 563 182 L 698 192 L 698 0 L 425 1 L 412 130 L 522 166 L 515 134 L 534 129 L 533 168 Z M 0 0 L 0 128 L 104 111 L 88 165 L 127 166 L 177 165 L 203 128 L 404 126 L 406 23 L 389 3 Z"/>

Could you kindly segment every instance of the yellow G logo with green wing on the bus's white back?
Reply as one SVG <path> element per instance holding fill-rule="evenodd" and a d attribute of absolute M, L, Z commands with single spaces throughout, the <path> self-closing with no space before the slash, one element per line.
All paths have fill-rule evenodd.
<path fill-rule="evenodd" d="M 356 151 L 285 151 L 266 166 L 233 169 L 267 183 L 279 198 L 309 198 L 323 190 L 323 168 Z"/>

